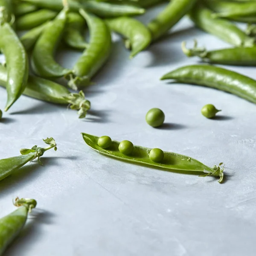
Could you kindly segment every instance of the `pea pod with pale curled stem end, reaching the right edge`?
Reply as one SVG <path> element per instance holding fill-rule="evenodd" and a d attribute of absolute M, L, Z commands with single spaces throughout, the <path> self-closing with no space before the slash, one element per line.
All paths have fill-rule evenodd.
<path fill-rule="evenodd" d="M 222 65 L 256 66 L 256 47 L 235 47 L 207 51 L 204 47 L 187 49 L 183 42 L 182 50 L 188 57 L 198 56 L 203 62 Z"/>

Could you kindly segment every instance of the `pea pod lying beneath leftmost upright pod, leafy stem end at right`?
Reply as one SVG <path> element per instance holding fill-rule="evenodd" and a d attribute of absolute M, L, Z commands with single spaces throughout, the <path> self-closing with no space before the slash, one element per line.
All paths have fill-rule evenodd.
<path fill-rule="evenodd" d="M 7 71 L 0 65 L 0 85 L 6 87 Z M 70 91 L 53 81 L 36 76 L 29 76 L 24 95 L 34 99 L 43 100 L 55 104 L 69 105 L 71 109 L 77 110 L 79 118 L 84 118 L 90 110 L 90 101 L 84 99 L 84 93 L 70 93 Z"/>

